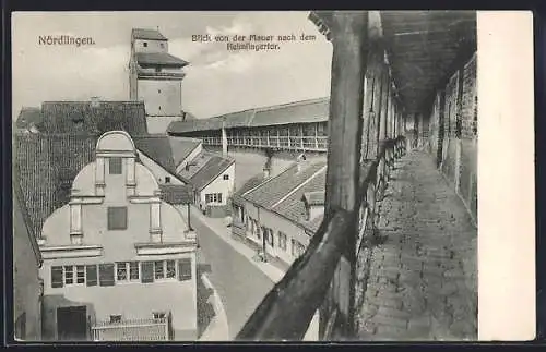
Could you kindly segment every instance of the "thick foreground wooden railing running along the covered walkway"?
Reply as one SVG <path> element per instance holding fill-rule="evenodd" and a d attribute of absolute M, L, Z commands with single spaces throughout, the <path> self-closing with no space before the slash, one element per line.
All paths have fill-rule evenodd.
<path fill-rule="evenodd" d="M 304 338 L 313 315 L 327 299 L 346 241 L 347 229 L 354 221 L 359 221 L 356 252 L 359 252 L 359 247 L 368 240 L 365 238 L 366 233 L 376 233 L 373 228 L 378 219 L 377 202 L 382 198 L 394 160 L 405 153 L 405 146 L 403 136 L 381 144 L 377 158 L 371 162 L 358 187 L 358 196 L 361 199 L 358 214 L 337 210 L 324 218 L 306 252 L 265 295 L 237 335 L 237 340 L 282 341 Z M 321 329 L 321 339 L 330 339 L 334 333 L 336 313 L 335 308 L 327 313 L 329 316 L 323 319 L 327 326 Z"/>

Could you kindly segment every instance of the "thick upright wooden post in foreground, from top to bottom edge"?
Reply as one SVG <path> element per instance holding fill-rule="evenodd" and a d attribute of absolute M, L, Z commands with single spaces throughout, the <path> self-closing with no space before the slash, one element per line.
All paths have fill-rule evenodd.
<path fill-rule="evenodd" d="M 363 88 L 368 58 L 368 12 L 336 11 L 332 15 L 332 83 L 330 95 L 329 153 L 325 217 L 344 209 L 356 214 L 363 136 Z M 354 336 L 355 246 L 358 221 L 346 232 L 342 258 L 334 274 L 337 331 Z M 336 294 L 335 294 L 336 293 Z M 328 315 L 332 312 L 328 312 Z"/>

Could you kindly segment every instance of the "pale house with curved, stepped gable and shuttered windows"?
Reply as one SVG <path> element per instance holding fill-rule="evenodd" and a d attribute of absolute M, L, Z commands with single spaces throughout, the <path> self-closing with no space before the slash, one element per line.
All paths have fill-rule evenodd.
<path fill-rule="evenodd" d="M 197 337 L 197 240 L 136 155 L 126 132 L 103 134 L 44 223 L 46 340 Z"/>

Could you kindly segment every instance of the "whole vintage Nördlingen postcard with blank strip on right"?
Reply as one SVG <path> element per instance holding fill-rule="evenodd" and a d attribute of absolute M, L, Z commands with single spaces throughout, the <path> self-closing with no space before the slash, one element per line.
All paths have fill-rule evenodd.
<path fill-rule="evenodd" d="M 12 13 L 15 340 L 534 339 L 532 21 Z"/>

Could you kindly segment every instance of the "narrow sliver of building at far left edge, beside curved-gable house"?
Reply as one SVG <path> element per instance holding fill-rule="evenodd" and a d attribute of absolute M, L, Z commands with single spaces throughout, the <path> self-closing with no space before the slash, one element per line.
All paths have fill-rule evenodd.
<path fill-rule="evenodd" d="M 13 180 L 13 318 L 16 340 L 41 340 L 41 254 L 17 175 Z"/>

